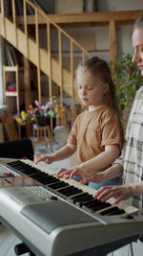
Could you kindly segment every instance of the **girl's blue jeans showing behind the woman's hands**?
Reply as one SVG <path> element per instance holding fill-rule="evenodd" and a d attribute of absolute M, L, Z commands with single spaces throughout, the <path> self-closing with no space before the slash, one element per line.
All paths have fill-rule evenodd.
<path fill-rule="evenodd" d="M 76 176 L 74 175 L 72 177 L 74 180 L 76 181 L 80 181 L 81 177 L 80 176 Z M 92 189 L 98 190 L 99 188 L 103 187 L 103 186 L 109 186 L 109 185 L 122 185 L 122 178 L 119 176 L 113 177 L 111 179 L 102 181 L 100 183 L 94 183 L 94 182 L 89 182 L 88 184 L 89 187 L 91 187 Z"/>

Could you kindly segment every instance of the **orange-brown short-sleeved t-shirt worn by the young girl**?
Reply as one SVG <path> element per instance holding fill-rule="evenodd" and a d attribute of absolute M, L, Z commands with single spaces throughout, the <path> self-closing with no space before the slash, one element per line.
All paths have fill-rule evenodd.
<path fill-rule="evenodd" d="M 68 143 L 76 145 L 79 163 L 92 159 L 106 145 L 122 148 L 119 119 L 113 109 L 104 105 L 91 112 L 85 110 L 77 116 Z"/>

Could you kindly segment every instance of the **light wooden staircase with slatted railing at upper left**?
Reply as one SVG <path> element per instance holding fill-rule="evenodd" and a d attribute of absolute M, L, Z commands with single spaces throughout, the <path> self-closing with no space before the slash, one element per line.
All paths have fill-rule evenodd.
<path fill-rule="evenodd" d="M 32 38 L 28 29 L 28 5 L 34 11 L 34 28 L 35 38 Z M 92 55 L 87 52 L 72 36 L 68 35 L 58 25 L 42 11 L 38 10 L 36 6 L 31 4 L 29 0 L 23 0 L 23 15 L 24 26 L 18 27 L 16 22 L 16 8 L 15 0 L 11 0 L 11 13 L 12 16 L 6 17 L 4 12 L 4 0 L 1 0 L 0 12 L 0 35 L 2 35 L 10 44 L 15 47 L 23 56 L 30 59 L 31 62 L 37 67 L 37 80 L 38 80 L 38 100 L 41 102 L 41 71 L 49 77 L 49 91 L 50 99 L 52 97 L 52 81 L 60 86 L 60 101 L 63 105 L 63 90 L 65 90 L 72 98 L 72 118 L 74 119 L 74 99 L 77 99 L 73 87 L 74 80 L 74 47 L 81 51 L 81 60 L 89 58 Z M 39 20 L 44 19 L 47 24 L 47 49 L 39 45 Z M 56 30 L 58 35 L 58 55 L 57 58 L 51 56 L 51 27 Z M 70 43 L 70 63 L 71 68 L 67 69 L 63 65 L 62 56 L 62 36 L 66 36 Z"/>

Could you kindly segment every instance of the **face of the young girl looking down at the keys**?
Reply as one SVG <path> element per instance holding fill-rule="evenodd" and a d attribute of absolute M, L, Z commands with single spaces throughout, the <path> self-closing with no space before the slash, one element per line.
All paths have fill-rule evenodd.
<path fill-rule="evenodd" d="M 108 91 L 108 83 L 103 83 L 98 77 L 92 76 L 85 68 L 79 68 L 77 72 L 78 97 L 83 105 L 90 106 L 92 110 L 103 105 L 103 96 Z"/>

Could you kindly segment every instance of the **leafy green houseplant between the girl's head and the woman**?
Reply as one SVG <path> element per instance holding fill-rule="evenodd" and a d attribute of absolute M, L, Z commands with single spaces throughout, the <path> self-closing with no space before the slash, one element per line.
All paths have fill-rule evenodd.
<path fill-rule="evenodd" d="M 136 64 L 132 62 L 132 58 L 130 54 L 123 54 L 122 58 L 115 62 L 115 71 L 112 72 L 124 128 L 126 128 L 135 93 L 143 85 L 143 78 Z"/>

